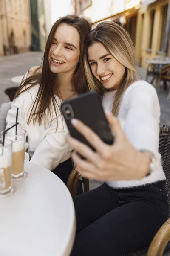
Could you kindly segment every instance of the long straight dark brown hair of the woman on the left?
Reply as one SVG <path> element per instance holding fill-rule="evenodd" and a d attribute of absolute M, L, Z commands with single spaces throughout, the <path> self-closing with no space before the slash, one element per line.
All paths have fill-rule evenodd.
<path fill-rule="evenodd" d="M 61 114 L 59 105 L 56 101 L 56 97 L 54 95 L 54 88 L 57 96 L 59 95 L 59 91 L 57 90 L 57 84 L 55 81 L 55 75 L 50 70 L 48 55 L 50 52 L 51 44 L 54 39 L 54 34 L 56 32 L 57 27 L 60 23 L 66 23 L 67 25 L 74 26 L 79 32 L 80 36 L 80 62 L 77 64 L 76 70 L 72 76 L 71 84 L 74 86 L 74 91 L 76 93 L 83 93 L 88 90 L 87 80 L 85 77 L 83 59 L 85 52 L 85 37 L 91 31 L 91 23 L 82 17 L 78 17 L 77 15 L 67 15 L 59 18 L 51 28 L 51 31 L 48 35 L 45 52 L 43 56 L 43 64 L 42 64 L 42 72 L 34 72 L 33 75 L 26 78 L 21 82 L 20 87 L 17 90 L 15 98 L 17 98 L 21 93 L 29 90 L 37 84 L 40 84 L 37 96 L 34 99 L 34 102 L 31 105 L 31 112 L 28 116 L 28 124 L 30 124 L 33 119 L 33 123 L 38 121 L 39 125 L 42 124 L 42 119 L 44 118 L 45 126 L 52 122 L 52 110 L 51 107 L 54 108 L 54 112 L 57 116 Z M 40 70 L 40 69 L 39 69 Z M 52 102 L 51 102 L 52 101 Z M 52 106 L 51 106 L 52 103 Z M 58 113 L 58 114 L 57 114 Z M 58 120 L 57 120 L 58 126 Z"/>

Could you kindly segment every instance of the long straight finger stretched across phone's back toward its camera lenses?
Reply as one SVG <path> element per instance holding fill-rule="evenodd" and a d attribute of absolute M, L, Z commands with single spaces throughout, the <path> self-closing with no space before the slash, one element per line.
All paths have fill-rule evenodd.
<path fill-rule="evenodd" d="M 81 133 L 83 137 L 85 137 L 85 139 L 92 145 L 92 147 L 95 148 L 97 152 L 99 152 L 99 154 L 109 154 L 110 147 L 106 145 L 99 138 L 99 136 L 94 131 L 91 130 L 91 128 L 89 128 L 87 125 L 85 125 L 77 119 L 72 119 L 71 123 L 74 126 L 74 128 L 76 128 L 77 131 L 79 131 L 79 133 Z"/>

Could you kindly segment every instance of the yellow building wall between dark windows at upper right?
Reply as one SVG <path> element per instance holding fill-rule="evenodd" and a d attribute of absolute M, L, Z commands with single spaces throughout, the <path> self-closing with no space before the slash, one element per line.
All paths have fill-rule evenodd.
<path fill-rule="evenodd" d="M 161 56 L 157 52 L 160 51 L 161 23 L 163 18 L 162 8 L 166 4 L 168 4 L 168 0 L 158 0 L 150 6 L 144 6 L 139 9 L 135 49 L 139 65 L 144 68 L 147 68 L 147 59 L 150 60 L 155 57 Z M 151 51 L 148 52 L 147 49 L 149 48 L 151 30 L 150 12 L 153 10 L 155 10 L 155 17 L 153 23 L 153 38 Z"/>

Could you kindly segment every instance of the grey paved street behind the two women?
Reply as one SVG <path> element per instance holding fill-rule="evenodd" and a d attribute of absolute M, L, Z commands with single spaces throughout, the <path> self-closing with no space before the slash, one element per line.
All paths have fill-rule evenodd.
<path fill-rule="evenodd" d="M 26 73 L 30 67 L 41 64 L 42 52 L 27 52 L 12 56 L 0 57 L 0 105 L 3 102 L 9 102 L 4 90 L 8 87 L 17 86 L 18 84 L 11 81 L 15 76 Z M 145 79 L 146 70 L 139 67 L 139 73 L 142 79 Z M 139 76 L 138 76 L 139 77 Z M 170 101 L 167 101 L 167 91 L 164 91 L 162 85 L 158 89 L 159 102 L 161 105 L 161 125 L 170 125 Z"/>

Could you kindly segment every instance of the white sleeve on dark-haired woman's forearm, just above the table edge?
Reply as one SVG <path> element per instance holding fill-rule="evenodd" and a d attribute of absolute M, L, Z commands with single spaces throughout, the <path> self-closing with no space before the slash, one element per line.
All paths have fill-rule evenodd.
<path fill-rule="evenodd" d="M 49 170 L 59 165 L 70 150 L 66 143 L 64 132 L 47 134 L 36 148 L 30 162 L 37 163 Z"/>

